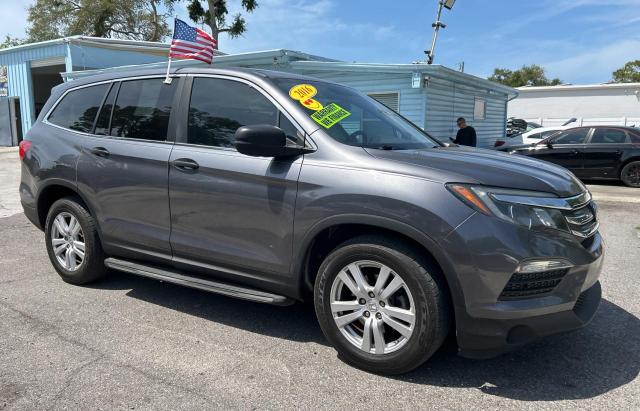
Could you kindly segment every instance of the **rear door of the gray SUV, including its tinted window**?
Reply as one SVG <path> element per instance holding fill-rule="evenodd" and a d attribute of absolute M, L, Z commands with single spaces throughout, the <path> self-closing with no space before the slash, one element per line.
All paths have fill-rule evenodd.
<path fill-rule="evenodd" d="M 170 259 L 168 126 L 177 81 L 113 83 L 78 161 L 108 254 Z"/>

